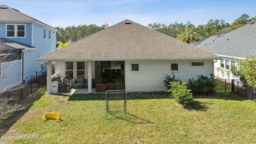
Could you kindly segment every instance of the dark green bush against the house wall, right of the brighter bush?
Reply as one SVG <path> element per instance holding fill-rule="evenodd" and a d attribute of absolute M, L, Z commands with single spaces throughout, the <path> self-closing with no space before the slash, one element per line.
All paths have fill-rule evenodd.
<path fill-rule="evenodd" d="M 197 80 L 193 78 L 188 80 L 188 88 L 192 90 L 194 94 L 201 94 L 204 92 L 215 92 L 218 81 L 214 78 L 214 74 L 210 74 L 210 78 L 207 76 L 198 76 Z"/>

